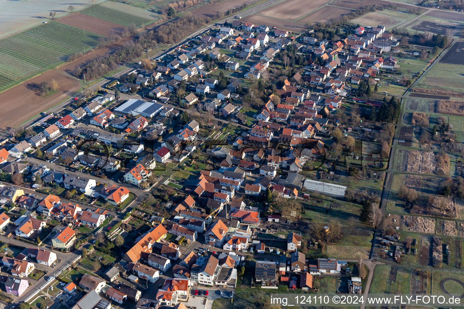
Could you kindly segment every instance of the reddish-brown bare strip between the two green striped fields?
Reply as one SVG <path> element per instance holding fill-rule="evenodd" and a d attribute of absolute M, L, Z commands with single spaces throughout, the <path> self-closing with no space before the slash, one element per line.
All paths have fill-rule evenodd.
<path fill-rule="evenodd" d="M 111 35 L 121 35 L 126 27 L 99 19 L 93 16 L 74 13 L 58 20 L 60 23 L 71 25 L 87 31 L 109 37 Z"/>

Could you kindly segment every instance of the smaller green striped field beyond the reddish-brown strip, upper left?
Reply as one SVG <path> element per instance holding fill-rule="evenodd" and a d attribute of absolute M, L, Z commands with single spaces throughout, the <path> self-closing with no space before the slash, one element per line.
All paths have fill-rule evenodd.
<path fill-rule="evenodd" d="M 107 7 L 102 6 L 90 6 L 88 9 L 81 11 L 80 13 L 97 17 L 99 19 L 107 20 L 115 24 L 129 27 L 135 24 L 137 27 L 148 25 L 152 23 L 152 20 L 116 11 Z"/>

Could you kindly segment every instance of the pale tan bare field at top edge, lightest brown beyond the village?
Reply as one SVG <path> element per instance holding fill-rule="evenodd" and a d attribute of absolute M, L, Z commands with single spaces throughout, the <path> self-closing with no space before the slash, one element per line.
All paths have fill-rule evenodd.
<path fill-rule="evenodd" d="M 277 4 L 277 6 L 272 6 L 264 11 L 260 11 L 259 13 L 281 19 L 295 20 L 311 13 L 327 2 L 329 2 L 329 0 L 288 0 Z"/>

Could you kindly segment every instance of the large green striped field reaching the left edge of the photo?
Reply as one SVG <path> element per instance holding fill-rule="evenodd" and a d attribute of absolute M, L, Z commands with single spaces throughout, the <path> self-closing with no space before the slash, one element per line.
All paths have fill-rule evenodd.
<path fill-rule="evenodd" d="M 102 36 L 49 22 L 0 40 L 0 88 L 97 46 Z"/>

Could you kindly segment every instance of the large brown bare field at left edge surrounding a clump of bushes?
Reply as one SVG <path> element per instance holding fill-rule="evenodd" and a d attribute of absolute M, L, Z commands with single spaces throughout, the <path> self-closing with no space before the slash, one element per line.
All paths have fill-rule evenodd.
<path fill-rule="evenodd" d="M 59 90 L 53 95 L 42 97 L 35 91 L 42 82 L 55 79 Z M 63 101 L 81 87 L 80 82 L 56 70 L 48 70 L 22 84 L 0 93 L 0 128 L 18 126 L 40 112 Z"/>

